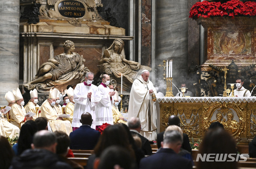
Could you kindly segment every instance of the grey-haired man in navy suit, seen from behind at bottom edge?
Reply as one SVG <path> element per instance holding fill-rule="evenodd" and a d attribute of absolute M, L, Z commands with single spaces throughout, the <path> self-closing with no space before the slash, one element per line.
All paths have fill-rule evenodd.
<path fill-rule="evenodd" d="M 177 154 L 181 143 L 182 135 L 178 131 L 165 132 L 162 148 L 157 153 L 141 159 L 140 169 L 192 169 L 191 161 Z"/>

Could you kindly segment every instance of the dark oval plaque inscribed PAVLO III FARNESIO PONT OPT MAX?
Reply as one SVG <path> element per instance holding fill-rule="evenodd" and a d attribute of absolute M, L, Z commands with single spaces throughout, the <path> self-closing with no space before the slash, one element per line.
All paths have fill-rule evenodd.
<path fill-rule="evenodd" d="M 64 0 L 58 5 L 60 14 L 68 18 L 82 18 L 85 14 L 84 5 L 74 0 Z"/>

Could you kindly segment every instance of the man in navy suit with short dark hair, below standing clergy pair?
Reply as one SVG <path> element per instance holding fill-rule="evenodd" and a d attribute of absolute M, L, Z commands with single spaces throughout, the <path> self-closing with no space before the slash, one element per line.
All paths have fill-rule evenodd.
<path fill-rule="evenodd" d="M 70 149 L 94 149 L 100 138 L 100 132 L 91 128 L 92 115 L 83 113 L 80 122 L 82 126 L 69 135 Z"/>

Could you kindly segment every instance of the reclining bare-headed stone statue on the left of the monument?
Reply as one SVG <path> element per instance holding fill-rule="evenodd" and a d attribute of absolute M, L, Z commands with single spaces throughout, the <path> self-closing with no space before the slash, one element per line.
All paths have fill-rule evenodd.
<path fill-rule="evenodd" d="M 45 93 L 50 88 L 70 82 L 72 79 L 81 79 L 89 69 L 84 67 L 83 56 L 74 52 L 74 43 L 67 40 L 64 53 L 48 59 L 43 63 L 32 81 L 24 85 L 26 90 L 36 88 L 38 92 Z"/>

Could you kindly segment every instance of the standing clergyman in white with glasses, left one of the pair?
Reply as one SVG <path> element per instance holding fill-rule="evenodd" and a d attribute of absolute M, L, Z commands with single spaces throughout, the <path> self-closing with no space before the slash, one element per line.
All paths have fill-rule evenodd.
<path fill-rule="evenodd" d="M 87 72 L 85 75 L 84 83 L 79 83 L 76 85 L 74 90 L 74 114 L 72 127 L 76 130 L 82 123 L 80 122 L 81 115 L 84 112 L 88 112 L 92 115 L 92 126 L 91 128 L 96 129 L 96 104 L 97 102 L 92 102 L 97 91 L 97 86 L 93 85 L 94 74 Z"/>

